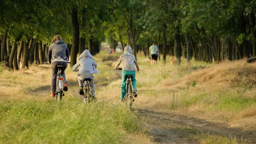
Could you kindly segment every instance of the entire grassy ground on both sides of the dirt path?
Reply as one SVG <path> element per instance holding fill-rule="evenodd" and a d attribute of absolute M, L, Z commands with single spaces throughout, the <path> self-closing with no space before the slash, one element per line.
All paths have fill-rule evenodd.
<path fill-rule="evenodd" d="M 84 105 L 77 73 L 66 70 L 69 90 L 60 103 L 50 98 L 50 65 L 8 71 L 0 66 L 0 143 L 152 143 L 143 120 L 118 103 L 121 53 L 94 58 L 97 102 Z M 207 64 L 150 65 L 138 54 L 136 109 L 173 112 L 230 127 L 256 130 L 256 64 L 243 60 Z M 237 143 L 236 138 L 197 134 L 200 143 Z"/>

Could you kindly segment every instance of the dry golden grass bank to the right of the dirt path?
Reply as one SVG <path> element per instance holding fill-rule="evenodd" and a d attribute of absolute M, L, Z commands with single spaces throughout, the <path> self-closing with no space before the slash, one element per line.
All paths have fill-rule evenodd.
<path fill-rule="evenodd" d="M 183 60 L 184 61 L 184 60 Z M 230 126 L 256 129 L 256 63 L 244 60 L 180 66 L 151 66 L 139 60 L 138 108 L 172 111 L 224 122 Z"/>

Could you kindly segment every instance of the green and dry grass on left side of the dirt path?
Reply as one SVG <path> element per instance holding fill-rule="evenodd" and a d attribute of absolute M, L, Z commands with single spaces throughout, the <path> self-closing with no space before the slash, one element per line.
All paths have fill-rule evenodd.
<path fill-rule="evenodd" d="M 112 69 L 101 63 L 101 72 Z M 50 65 L 14 72 L 1 66 L 0 73 L 1 144 L 152 143 L 142 120 L 122 104 L 98 98 L 84 105 L 78 95 L 77 73 L 70 68 L 66 70 L 69 90 L 61 102 L 50 98 Z M 111 73 L 95 76 L 97 92 L 113 80 Z"/>

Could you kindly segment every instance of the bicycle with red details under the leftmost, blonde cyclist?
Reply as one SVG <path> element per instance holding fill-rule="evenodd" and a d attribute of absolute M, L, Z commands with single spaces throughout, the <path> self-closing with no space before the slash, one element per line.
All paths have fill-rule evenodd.
<path fill-rule="evenodd" d="M 63 86 L 64 81 L 63 77 L 61 76 L 61 69 L 63 66 L 57 66 L 58 72 L 57 72 L 57 78 L 56 78 L 56 92 L 55 92 L 55 100 L 60 101 L 62 99 L 62 96 L 64 96 L 63 92 Z"/>

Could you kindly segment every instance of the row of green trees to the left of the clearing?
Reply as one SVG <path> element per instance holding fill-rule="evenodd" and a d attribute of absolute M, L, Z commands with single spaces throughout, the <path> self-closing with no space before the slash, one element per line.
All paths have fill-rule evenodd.
<path fill-rule="evenodd" d="M 99 52 L 105 0 L 0 1 L 0 61 L 12 69 L 46 62 L 51 38 L 60 34 L 68 44 L 71 66 L 85 48 Z"/>

